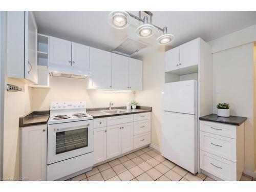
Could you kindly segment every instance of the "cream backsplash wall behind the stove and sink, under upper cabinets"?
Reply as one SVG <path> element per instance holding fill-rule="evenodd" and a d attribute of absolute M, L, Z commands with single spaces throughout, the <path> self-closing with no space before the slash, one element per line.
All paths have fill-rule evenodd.
<path fill-rule="evenodd" d="M 114 106 L 126 106 L 126 102 L 135 97 L 135 92 L 87 90 L 87 80 L 50 77 L 51 89 L 33 88 L 33 111 L 49 110 L 51 101 L 84 100 L 87 108 L 108 107 L 110 101 L 113 101 Z"/>

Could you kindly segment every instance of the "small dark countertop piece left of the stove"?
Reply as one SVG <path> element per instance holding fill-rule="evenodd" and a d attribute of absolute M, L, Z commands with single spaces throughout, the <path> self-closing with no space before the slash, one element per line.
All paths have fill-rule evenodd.
<path fill-rule="evenodd" d="M 19 127 L 47 124 L 50 111 L 33 111 L 19 118 Z"/>

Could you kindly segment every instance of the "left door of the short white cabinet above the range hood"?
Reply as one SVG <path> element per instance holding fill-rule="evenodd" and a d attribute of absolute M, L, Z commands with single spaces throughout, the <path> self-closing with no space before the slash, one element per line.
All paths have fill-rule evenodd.
<path fill-rule="evenodd" d="M 71 42 L 50 36 L 49 67 L 71 69 Z"/>

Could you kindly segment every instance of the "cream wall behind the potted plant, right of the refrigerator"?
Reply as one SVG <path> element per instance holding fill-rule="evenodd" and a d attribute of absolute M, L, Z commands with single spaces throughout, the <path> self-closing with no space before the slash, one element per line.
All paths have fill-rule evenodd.
<path fill-rule="evenodd" d="M 214 53 L 214 113 L 218 102 L 230 103 L 230 115 L 245 122 L 245 168 L 254 171 L 253 42 Z"/>

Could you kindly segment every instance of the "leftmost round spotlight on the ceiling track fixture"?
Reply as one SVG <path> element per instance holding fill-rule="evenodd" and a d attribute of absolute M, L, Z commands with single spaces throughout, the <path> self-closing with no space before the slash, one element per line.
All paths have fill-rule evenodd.
<path fill-rule="evenodd" d="M 109 14 L 109 23 L 112 27 L 123 29 L 130 25 L 130 15 L 125 11 L 112 11 Z"/>

